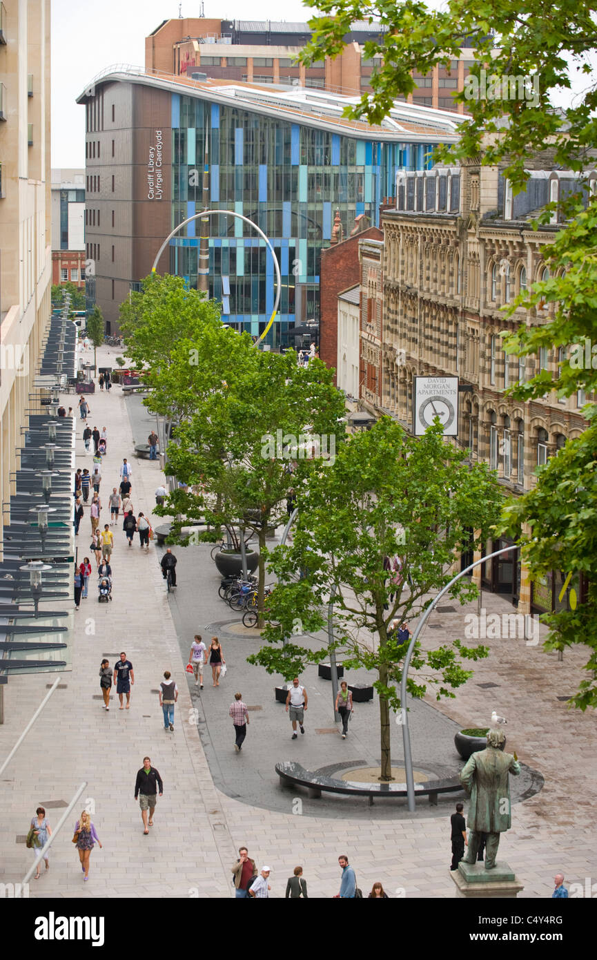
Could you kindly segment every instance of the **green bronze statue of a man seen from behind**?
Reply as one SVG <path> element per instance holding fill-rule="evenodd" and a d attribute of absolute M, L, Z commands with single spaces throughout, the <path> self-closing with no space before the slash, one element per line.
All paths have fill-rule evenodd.
<path fill-rule="evenodd" d="M 470 795 L 468 851 L 463 862 L 476 862 L 481 834 L 486 833 L 485 869 L 492 870 L 499 835 L 512 827 L 509 774 L 519 774 L 520 766 L 512 754 L 500 750 L 506 739 L 500 730 L 490 730 L 487 739 L 486 749 L 471 754 L 460 775 Z"/>

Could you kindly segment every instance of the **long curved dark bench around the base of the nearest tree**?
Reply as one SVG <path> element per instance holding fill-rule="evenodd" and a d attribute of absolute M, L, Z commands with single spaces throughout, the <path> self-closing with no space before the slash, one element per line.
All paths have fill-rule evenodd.
<path fill-rule="evenodd" d="M 326 793 L 341 793 L 352 797 L 368 797 L 369 805 L 373 805 L 373 799 L 378 797 L 406 797 L 406 783 L 349 783 L 347 780 L 335 780 L 333 777 L 327 777 L 325 774 L 311 773 L 305 770 L 294 760 L 284 760 L 275 764 L 275 772 L 279 777 L 280 786 L 304 786 L 307 788 L 311 799 L 318 799 L 322 796 L 322 790 Z M 438 805 L 438 794 L 440 793 L 462 793 L 464 787 L 458 777 L 452 777 L 446 780 L 428 780 L 426 783 L 415 783 L 416 796 L 429 797 L 429 803 L 432 806 Z"/>

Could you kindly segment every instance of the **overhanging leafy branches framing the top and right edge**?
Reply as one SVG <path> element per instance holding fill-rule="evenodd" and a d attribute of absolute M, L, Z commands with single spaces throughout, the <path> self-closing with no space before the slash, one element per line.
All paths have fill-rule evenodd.
<path fill-rule="evenodd" d="M 381 55 L 383 59 L 371 77 L 373 92 L 364 94 L 354 108 L 346 110 L 347 115 L 380 122 L 396 97 L 413 90 L 412 70 L 424 75 L 435 64 L 449 66 L 449 60 L 458 57 L 463 48 L 473 47 L 472 79 L 466 81 L 464 91 L 453 95 L 455 103 L 466 101 L 470 116 L 459 128 L 458 143 L 443 147 L 436 158 L 453 161 L 481 156 L 484 164 L 503 164 L 514 195 L 528 178 L 527 158 L 546 147 L 552 151 L 555 167 L 577 174 L 578 190 L 558 204 L 562 223 L 556 242 L 541 251 L 550 269 L 549 279 L 534 283 L 505 308 L 509 318 L 517 306 L 526 307 L 530 323 L 521 324 L 515 332 L 504 331 L 503 336 L 506 350 L 519 356 L 535 355 L 539 348 L 561 350 L 556 376 L 538 372 L 513 387 L 511 396 L 532 400 L 551 390 L 559 396 L 574 396 L 578 390 L 594 393 L 597 197 L 587 197 L 585 173 L 595 167 L 597 87 L 587 78 L 584 90 L 571 96 L 565 108 L 555 109 L 552 103 L 555 88 L 569 89 L 572 75 L 583 79 L 592 69 L 597 48 L 594 11 L 569 0 L 551 4 L 548 14 L 538 0 L 506 0 L 497 5 L 489 0 L 474 4 L 449 0 L 440 11 L 411 0 L 366 0 L 365 4 L 307 0 L 307 5 L 317 6 L 321 15 L 309 21 L 313 39 L 300 57 L 306 64 L 337 55 L 346 45 L 343 36 L 354 19 L 374 17 L 387 28 L 379 42 L 365 44 L 366 57 Z M 523 88 L 519 78 L 528 78 Z M 493 91 L 491 95 L 480 95 L 484 81 L 486 90 Z M 494 96 L 494 92 L 502 95 Z M 549 223 L 555 208 L 555 203 L 546 204 L 535 226 Z M 585 407 L 584 414 L 588 426 L 583 437 L 568 441 L 565 455 L 560 453 L 547 469 L 537 471 L 537 487 L 520 497 L 505 515 L 504 530 L 513 536 L 522 531 L 523 556 L 534 579 L 557 569 L 575 578 L 582 572 L 594 581 L 595 486 L 588 483 L 584 487 L 581 478 L 587 480 L 591 458 L 597 459 L 597 405 Z M 577 498 L 573 494 L 579 489 L 583 495 Z M 557 491 L 565 495 L 556 495 Z M 549 509 L 544 509 L 547 506 Z M 559 531 L 567 534 L 558 536 Z M 593 669 L 597 656 L 595 599 L 589 587 L 582 610 L 579 606 L 576 612 L 544 617 L 550 625 L 547 649 L 585 643 L 591 650 L 588 670 Z M 583 630 L 579 632 L 581 618 Z M 581 684 L 573 702 L 581 708 L 597 706 L 595 684 Z"/>

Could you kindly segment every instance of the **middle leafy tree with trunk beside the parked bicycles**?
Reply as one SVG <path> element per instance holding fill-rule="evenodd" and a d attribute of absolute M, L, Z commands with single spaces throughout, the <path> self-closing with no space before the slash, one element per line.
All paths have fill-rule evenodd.
<path fill-rule="evenodd" d="M 237 526 L 255 534 L 261 618 L 268 528 L 286 517 L 289 489 L 321 467 L 317 454 L 329 456 L 342 444 L 344 397 L 321 362 L 299 368 L 292 351 L 280 355 L 256 350 L 248 337 L 222 327 L 215 334 L 210 331 L 208 338 L 209 364 L 190 367 L 183 346 L 181 366 L 173 362 L 160 384 L 160 391 L 176 396 L 184 410 L 177 443 L 168 448 L 168 464 L 179 480 L 194 488 L 175 492 L 171 501 L 184 517 L 179 528 L 203 516 L 215 526 Z M 182 389 L 180 378 L 185 381 Z M 309 459 L 313 452 L 316 457 Z M 292 476 L 291 462 L 296 467 Z"/>

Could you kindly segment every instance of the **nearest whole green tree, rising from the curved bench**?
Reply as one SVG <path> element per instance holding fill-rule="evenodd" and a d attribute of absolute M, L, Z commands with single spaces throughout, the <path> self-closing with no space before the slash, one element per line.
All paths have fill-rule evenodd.
<path fill-rule="evenodd" d="M 292 637 L 314 634 L 326 623 L 334 593 L 334 640 L 347 667 L 377 671 L 381 780 L 392 780 L 390 709 L 400 708 L 396 684 L 407 644 L 393 622 L 409 620 L 445 586 L 459 552 L 479 546 L 499 516 L 503 495 L 485 464 L 469 467 L 466 452 L 445 444 L 438 422 L 416 440 L 388 417 L 370 431 L 350 437 L 335 463 L 316 470 L 299 498 L 299 517 L 290 546 L 278 546 L 270 564 L 280 584 L 269 598 L 268 645 L 250 657 L 287 680 L 306 663 L 328 656 Z M 472 534 L 472 531 L 475 534 Z M 397 556 L 396 572 L 384 559 Z M 293 580 L 297 570 L 306 573 Z M 448 595 L 462 603 L 476 595 L 463 578 Z M 487 656 L 482 646 L 460 640 L 423 651 L 417 645 L 408 690 L 422 697 L 427 685 L 440 697 L 464 684 L 471 671 L 462 660 Z"/>

